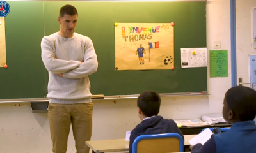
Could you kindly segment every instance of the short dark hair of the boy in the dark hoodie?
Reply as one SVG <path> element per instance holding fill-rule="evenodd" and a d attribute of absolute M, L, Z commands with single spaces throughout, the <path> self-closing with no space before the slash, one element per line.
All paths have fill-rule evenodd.
<path fill-rule="evenodd" d="M 161 98 L 155 91 L 144 91 L 137 99 L 137 106 L 140 107 L 143 115 L 146 117 L 157 115 L 160 105 Z"/>

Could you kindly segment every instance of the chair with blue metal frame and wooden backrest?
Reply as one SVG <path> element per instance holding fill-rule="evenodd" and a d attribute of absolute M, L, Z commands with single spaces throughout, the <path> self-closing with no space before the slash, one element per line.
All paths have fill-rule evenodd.
<path fill-rule="evenodd" d="M 183 152 L 184 140 L 177 133 L 140 135 L 132 143 L 133 153 Z"/>

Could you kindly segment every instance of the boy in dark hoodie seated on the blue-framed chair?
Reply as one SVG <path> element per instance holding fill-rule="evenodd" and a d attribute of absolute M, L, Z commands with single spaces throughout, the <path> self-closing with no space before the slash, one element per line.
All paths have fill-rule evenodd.
<path fill-rule="evenodd" d="M 154 91 L 144 91 L 138 97 L 138 116 L 142 122 L 131 132 L 129 153 L 132 153 L 132 143 L 135 138 L 140 135 L 178 133 L 184 140 L 184 136 L 172 119 L 163 119 L 163 117 L 157 115 L 160 104 L 161 98 Z"/>

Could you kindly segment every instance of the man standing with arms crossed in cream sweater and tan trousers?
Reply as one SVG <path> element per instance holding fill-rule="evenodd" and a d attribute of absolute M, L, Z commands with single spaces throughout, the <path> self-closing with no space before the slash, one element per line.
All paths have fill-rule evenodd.
<path fill-rule="evenodd" d="M 97 71 L 98 61 L 92 40 L 74 33 L 78 13 L 74 6 L 60 9 L 60 31 L 44 36 L 42 61 L 49 71 L 47 97 L 54 153 L 67 151 L 72 124 L 77 153 L 88 153 L 85 141 L 92 136 L 92 94 L 88 75 Z"/>

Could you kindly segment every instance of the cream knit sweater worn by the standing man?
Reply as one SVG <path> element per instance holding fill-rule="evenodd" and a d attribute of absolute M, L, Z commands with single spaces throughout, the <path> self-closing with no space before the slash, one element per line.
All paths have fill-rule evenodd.
<path fill-rule="evenodd" d="M 91 102 L 88 75 L 98 68 L 92 40 L 77 33 L 72 38 L 54 33 L 44 36 L 41 48 L 42 60 L 49 71 L 47 97 L 50 103 Z M 63 74 L 63 77 L 58 74 Z"/>

